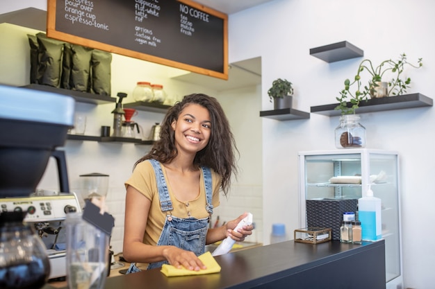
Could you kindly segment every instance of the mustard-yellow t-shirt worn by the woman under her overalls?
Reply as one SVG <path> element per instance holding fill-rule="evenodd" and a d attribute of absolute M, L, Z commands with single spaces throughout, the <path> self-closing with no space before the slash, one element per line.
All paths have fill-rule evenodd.
<path fill-rule="evenodd" d="M 167 179 L 165 167 L 161 165 L 163 175 Z M 175 198 L 171 186 L 166 182 L 167 190 L 169 191 L 170 198 L 172 200 L 172 207 L 174 211 L 171 211 L 172 216 L 178 218 L 207 218 L 208 212 L 206 210 L 206 191 L 204 186 L 204 175 L 201 171 L 199 178 L 199 195 L 195 200 L 189 202 L 180 202 Z M 213 187 L 213 208 L 219 206 L 219 193 L 221 177 L 217 175 L 214 170 L 211 170 L 212 187 Z M 163 225 L 165 224 L 165 218 L 168 212 L 161 211 L 160 201 L 158 199 L 158 189 L 156 182 L 156 175 L 154 169 L 149 161 L 142 161 L 133 170 L 131 177 L 125 182 L 125 186 L 133 186 L 140 193 L 145 195 L 145 198 L 151 200 L 151 208 L 149 209 L 147 229 L 143 238 L 143 243 L 148 245 L 156 245 L 158 238 L 161 235 Z"/>

